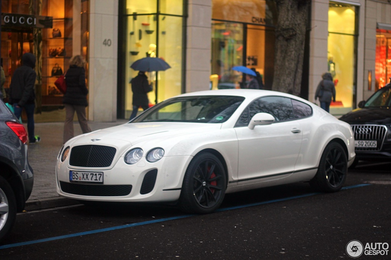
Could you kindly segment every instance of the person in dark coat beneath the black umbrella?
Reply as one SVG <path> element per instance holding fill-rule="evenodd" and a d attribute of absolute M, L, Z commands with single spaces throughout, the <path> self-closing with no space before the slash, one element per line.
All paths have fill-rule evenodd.
<path fill-rule="evenodd" d="M 138 75 L 130 81 L 132 84 L 133 92 L 133 111 L 129 120 L 136 117 L 138 108 L 141 107 L 144 111 L 149 108 L 149 100 L 147 93 L 152 91 L 152 87 L 149 85 L 147 75 L 144 71 L 139 71 Z"/>

